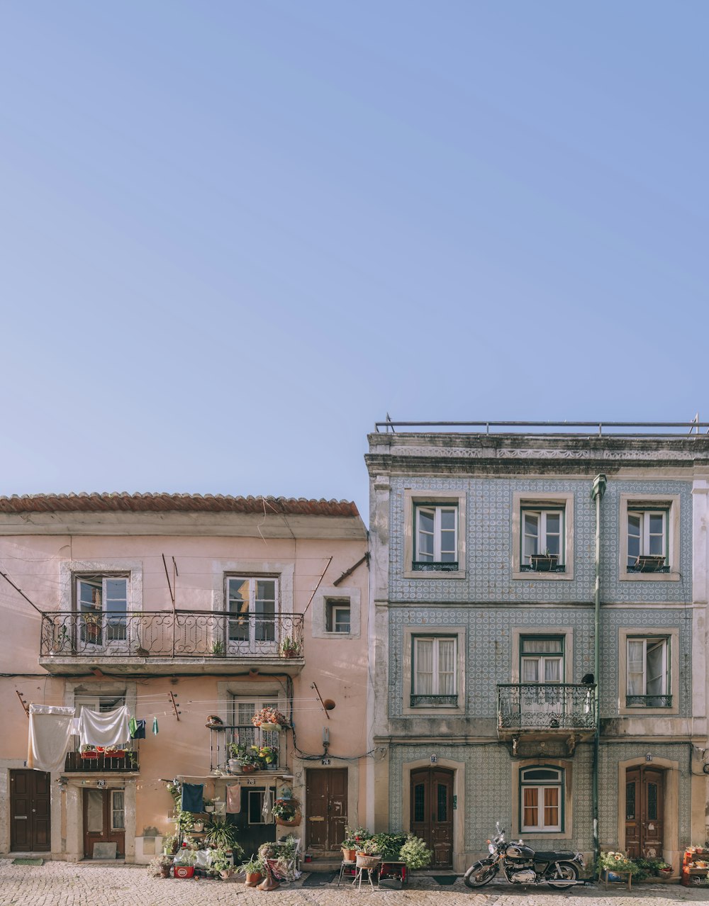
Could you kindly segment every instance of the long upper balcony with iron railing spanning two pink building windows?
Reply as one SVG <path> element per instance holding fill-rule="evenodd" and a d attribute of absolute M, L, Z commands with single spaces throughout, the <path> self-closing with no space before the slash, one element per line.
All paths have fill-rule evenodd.
<path fill-rule="evenodd" d="M 303 615 L 214 611 L 45 612 L 39 663 L 72 675 L 109 667 L 153 675 L 303 669 Z"/>

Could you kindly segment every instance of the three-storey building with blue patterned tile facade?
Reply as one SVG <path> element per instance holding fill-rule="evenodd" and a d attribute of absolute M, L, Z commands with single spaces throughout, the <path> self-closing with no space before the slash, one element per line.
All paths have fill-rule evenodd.
<path fill-rule="evenodd" d="M 457 871 L 498 820 L 676 871 L 707 836 L 709 438 L 456 430 L 369 437 L 374 823 Z"/>

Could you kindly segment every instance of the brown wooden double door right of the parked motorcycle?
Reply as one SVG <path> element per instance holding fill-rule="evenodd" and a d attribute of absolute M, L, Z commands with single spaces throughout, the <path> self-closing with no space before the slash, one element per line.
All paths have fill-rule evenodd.
<path fill-rule="evenodd" d="M 631 859 L 661 859 L 665 829 L 665 773 L 626 770 L 626 850 Z"/>

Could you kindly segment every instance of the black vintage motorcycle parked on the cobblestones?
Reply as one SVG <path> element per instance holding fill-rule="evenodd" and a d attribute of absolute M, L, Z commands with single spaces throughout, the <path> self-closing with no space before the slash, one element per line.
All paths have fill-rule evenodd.
<path fill-rule="evenodd" d="M 578 870 L 584 867 L 581 853 L 536 853 L 522 841 L 507 843 L 505 832 L 500 831 L 500 824 L 495 825 L 497 834 L 488 840 L 490 856 L 473 863 L 463 875 L 467 887 L 482 887 L 488 884 L 500 872 L 510 884 L 549 884 L 562 890 L 578 881 Z"/>

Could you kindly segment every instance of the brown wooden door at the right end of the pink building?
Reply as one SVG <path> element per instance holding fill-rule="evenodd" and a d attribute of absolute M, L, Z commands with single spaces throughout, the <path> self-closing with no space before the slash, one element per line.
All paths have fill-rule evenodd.
<path fill-rule="evenodd" d="M 306 770 L 306 849 L 337 852 L 347 824 L 347 768 Z"/>

